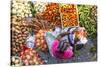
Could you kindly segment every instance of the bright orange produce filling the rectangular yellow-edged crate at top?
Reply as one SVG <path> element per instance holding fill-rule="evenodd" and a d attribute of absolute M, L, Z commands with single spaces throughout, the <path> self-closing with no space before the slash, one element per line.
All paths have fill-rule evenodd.
<path fill-rule="evenodd" d="M 77 26 L 78 25 L 78 15 L 77 7 L 74 4 L 61 4 L 61 16 L 63 26 Z"/>

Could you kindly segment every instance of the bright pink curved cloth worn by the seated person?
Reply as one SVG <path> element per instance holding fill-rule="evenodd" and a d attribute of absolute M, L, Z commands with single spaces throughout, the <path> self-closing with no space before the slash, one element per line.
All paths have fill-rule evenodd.
<path fill-rule="evenodd" d="M 68 59 L 73 56 L 72 47 L 68 47 L 63 53 L 58 50 L 59 41 L 56 39 L 52 43 L 51 51 L 52 55 L 59 59 Z"/>

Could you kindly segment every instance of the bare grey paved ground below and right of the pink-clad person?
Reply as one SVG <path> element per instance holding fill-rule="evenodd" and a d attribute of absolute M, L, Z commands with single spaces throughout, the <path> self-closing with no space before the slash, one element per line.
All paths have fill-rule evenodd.
<path fill-rule="evenodd" d="M 94 41 L 88 40 L 88 43 L 79 51 L 77 51 L 76 56 L 72 57 L 71 59 L 59 60 L 53 58 L 48 53 L 47 55 L 40 52 L 39 54 L 42 59 L 45 60 L 46 64 L 57 64 L 57 63 L 75 63 L 75 62 L 90 62 L 97 60 L 97 53 L 91 53 L 90 48 L 94 46 Z M 96 42 L 96 40 L 95 40 Z"/>

